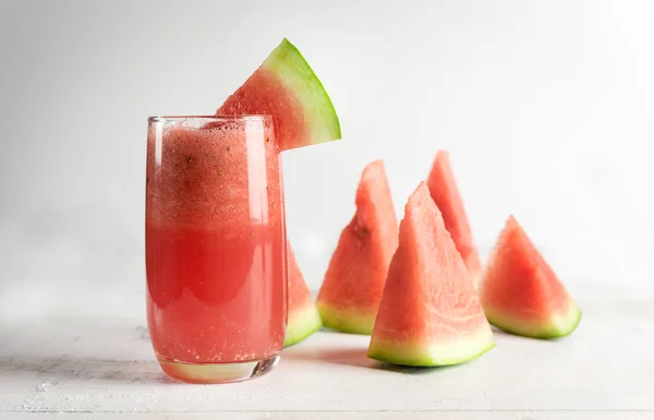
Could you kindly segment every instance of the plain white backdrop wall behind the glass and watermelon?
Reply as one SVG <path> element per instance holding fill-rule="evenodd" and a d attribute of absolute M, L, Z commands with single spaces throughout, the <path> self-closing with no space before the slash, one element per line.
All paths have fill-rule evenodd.
<path fill-rule="evenodd" d="M 654 2 L 177 4 L 0 0 L 0 319 L 141 293 L 146 118 L 211 113 L 283 36 L 344 135 L 283 158 L 312 288 L 365 164 L 401 217 L 446 148 L 483 256 L 513 213 L 574 297 L 654 296 Z"/>

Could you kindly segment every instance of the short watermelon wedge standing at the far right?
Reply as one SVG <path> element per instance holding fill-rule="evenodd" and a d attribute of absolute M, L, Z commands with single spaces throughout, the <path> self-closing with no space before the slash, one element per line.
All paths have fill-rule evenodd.
<path fill-rule="evenodd" d="M 513 216 L 484 269 L 480 299 L 493 325 L 526 337 L 562 337 L 581 320 L 579 307 Z"/>

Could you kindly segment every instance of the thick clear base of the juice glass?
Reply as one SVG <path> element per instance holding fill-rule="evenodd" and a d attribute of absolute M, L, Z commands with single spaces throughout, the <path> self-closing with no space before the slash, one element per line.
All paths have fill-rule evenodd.
<path fill-rule="evenodd" d="M 264 375 L 279 361 L 279 355 L 268 359 L 233 363 L 189 363 L 158 359 L 167 375 L 192 384 L 227 384 Z"/>

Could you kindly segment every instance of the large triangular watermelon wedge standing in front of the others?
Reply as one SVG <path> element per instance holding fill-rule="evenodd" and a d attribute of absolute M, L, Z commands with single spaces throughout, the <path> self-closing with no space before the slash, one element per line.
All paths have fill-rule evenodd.
<path fill-rule="evenodd" d="M 493 347 L 465 264 L 421 182 L 404 207 L 368 357 L 434 367 L 461 363 Z"/>

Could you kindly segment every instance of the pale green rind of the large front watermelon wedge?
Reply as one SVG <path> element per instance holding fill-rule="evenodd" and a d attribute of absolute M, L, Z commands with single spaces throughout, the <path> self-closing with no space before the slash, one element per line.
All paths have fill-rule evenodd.
<path fill-rule="evenodd" d="M 450 343 L 419 344 L 401 339 L 373 337 L 367 357 L 386 363 L 434 368 L 464 363 L 476 359 L 495 347 L 488 324 L 465 339 Z"/>

